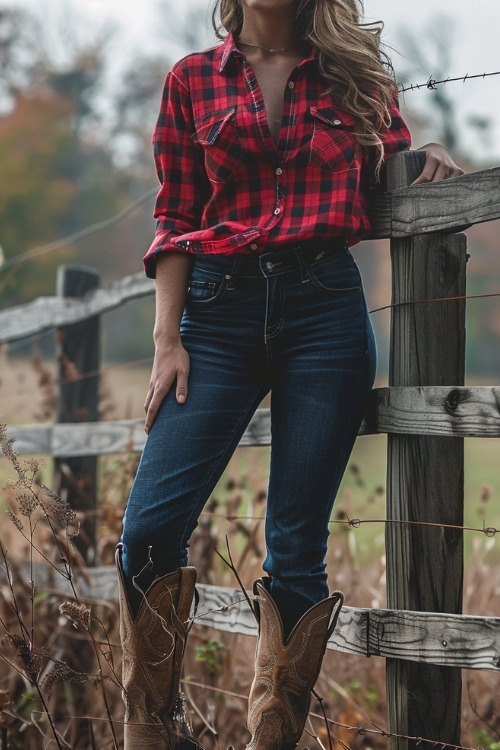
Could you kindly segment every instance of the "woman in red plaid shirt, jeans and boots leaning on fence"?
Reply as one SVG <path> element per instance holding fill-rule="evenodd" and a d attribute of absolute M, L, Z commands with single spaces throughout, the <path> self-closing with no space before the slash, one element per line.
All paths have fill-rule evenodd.
<path fill-rule="evenodd" d="M 357 0 L 217 9 L 222 43 L 173 67 L 154 134 L 148 439 L 117 553 L 129 749 L 195 742 L 179 697 L 188 542 L 269 391 L 249 747 L 300 739 L 342 602 L 328 596 L 328 521 L 375 370 L 348 245 L 370 229 L 385 159 L 410 145 L 380 29 L 361 24 Z M 419 182 L 461 174 L 440 146 L 424 149 Z"/>

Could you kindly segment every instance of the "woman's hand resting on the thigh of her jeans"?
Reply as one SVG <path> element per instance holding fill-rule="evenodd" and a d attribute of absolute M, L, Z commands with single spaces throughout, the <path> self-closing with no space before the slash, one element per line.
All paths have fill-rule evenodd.
<path fill-rule="evenodd" d="M 158 409 L 174 383 L 177 402 L 179 404 L 185 402 L 188 395 L 188 376 L 189 354 L 182 346 L 180 337 L 172 342 L 157 344 L 144 404 L 146 433 L 150 431 Z"/>

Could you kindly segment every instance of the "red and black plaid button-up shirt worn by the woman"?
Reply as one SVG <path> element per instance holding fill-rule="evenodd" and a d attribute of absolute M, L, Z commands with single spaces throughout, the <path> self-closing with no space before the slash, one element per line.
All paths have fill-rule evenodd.
<path fill-rule="evenodd" d="M 352 117 L 324 88 L 313 52 L 288 80 L 276 145 L 231 34 L 174 65 L 153 136 L 161 189 L 148 276 L 163 251 L 258 253 L 318 236 L 353 244 L 367 234 L 373 150 L 359 146 Z M 391 114 L 386 158 L 410 145 L 396 104 Z"/>

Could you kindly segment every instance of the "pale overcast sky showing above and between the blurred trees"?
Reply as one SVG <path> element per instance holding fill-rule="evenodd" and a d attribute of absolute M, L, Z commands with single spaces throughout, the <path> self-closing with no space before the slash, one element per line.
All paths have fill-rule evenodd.
<path fill-rule="evenodd" d="M 98 28 L 105 19 L 112 19 L 121 25 L 120 54 L 132 55 L 134 49 L 151 48 L 150 30 L 158 25 L 158 0 L 0 0 L 0 7 L 25 4 L 39 11 L 46 10 L 49 19 L 51 9 L 71 3 L 88 16 L 91 28 Z M 182 3 L 171 0 L 172 23 L 175 22 L 177 9 L 189 5 L 199 7 L 201 13 L 206 13 L 208 27 L 209 0 L 183 0 Z M 407 69 L 411 63 L 411 56 L 401 36 L 402 29 L 416 34 L 424 50 L 428 49 L 429 67 L 425 74 L 416 76 L 418 80 L 415 83 L 425 82 L 429 76 L 435 77 L 438 73 L 433 69 L 436 67 L 436 46 L 433 54 L 430 47 L 426 47 L 429 36 L 436 32 L 445 36 L 448 34 L 452 41 L 453 54 L 445 75 L 455 77 L 500 71 L 499 0 L 439 0 L 439 3 L 436 0 L 365 0 L 365 16 L 366 20 L 384 21 L 384 41 L 400 53 L 392 53 L 397 71 Z M 181 56 L 187 51 L 190 50 L 179 48 L 173 52 L 173 56 Z M 477 131 L 465 130 L 464 125 L 462 149 L 464 146 L 467 148 L 470 142 L 470 148 L 477 158 L 488 156 L 500 163 L 500 75 L 445 85 L 459 105 L 463 123 L 470 115 L 489 118 L 493 123 L 493 136 L 488 143 Z M 406 102 L 408 107 L 418 109 L 425 121 L 432 96 L 432 91 L 427 89 L 409 92 L 402 101 L 403 110 Z M 432 133 L 430 135 L 432 137 Z M 464 139 L 468 139 L 467 143 L 464 143 Z"/>

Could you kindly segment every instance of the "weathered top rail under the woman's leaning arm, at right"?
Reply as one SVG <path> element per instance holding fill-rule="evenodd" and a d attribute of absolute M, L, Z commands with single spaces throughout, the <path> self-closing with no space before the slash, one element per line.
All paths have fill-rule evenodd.
<path fill-rule="evenodd" d="M 372 237 L 457 232 L 464 226 L 499 218 L 500 167 L 493 167 L 377 196 Z"/>

